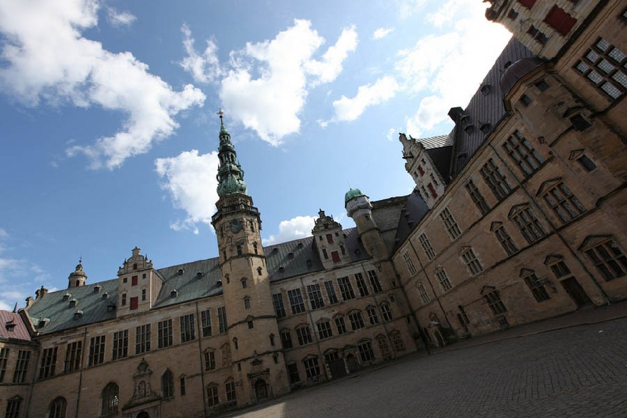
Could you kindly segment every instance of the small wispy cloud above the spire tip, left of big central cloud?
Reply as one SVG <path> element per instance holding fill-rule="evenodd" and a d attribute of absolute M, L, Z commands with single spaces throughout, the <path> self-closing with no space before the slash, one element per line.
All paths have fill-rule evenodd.
<path fill-rule="evenodd" d="M 207 47 L 202 54 L 194 49 L 194 38 L 192 31 L 189 30 L 187 24 L 180 27 L 183 32 L 183 48 L 187 56 L 180 61 L 180 66 L 189 72 L 195 82 L 210 83 L 215 82 L 222 75 L 220 62 L 217 57 L 217 46 L 212 40 L 207 40 Z"/>

